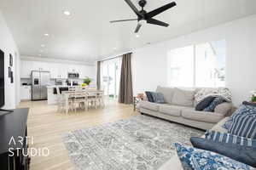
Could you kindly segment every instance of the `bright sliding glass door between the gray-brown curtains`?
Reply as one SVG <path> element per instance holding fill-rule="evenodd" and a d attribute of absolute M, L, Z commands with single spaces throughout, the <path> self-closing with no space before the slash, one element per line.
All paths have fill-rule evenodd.
<path fill-rule="evenodd" d="M 104 93 L 110 99 L 118 99 L 121 58 L 102 62 L 102 85 Z"/>

